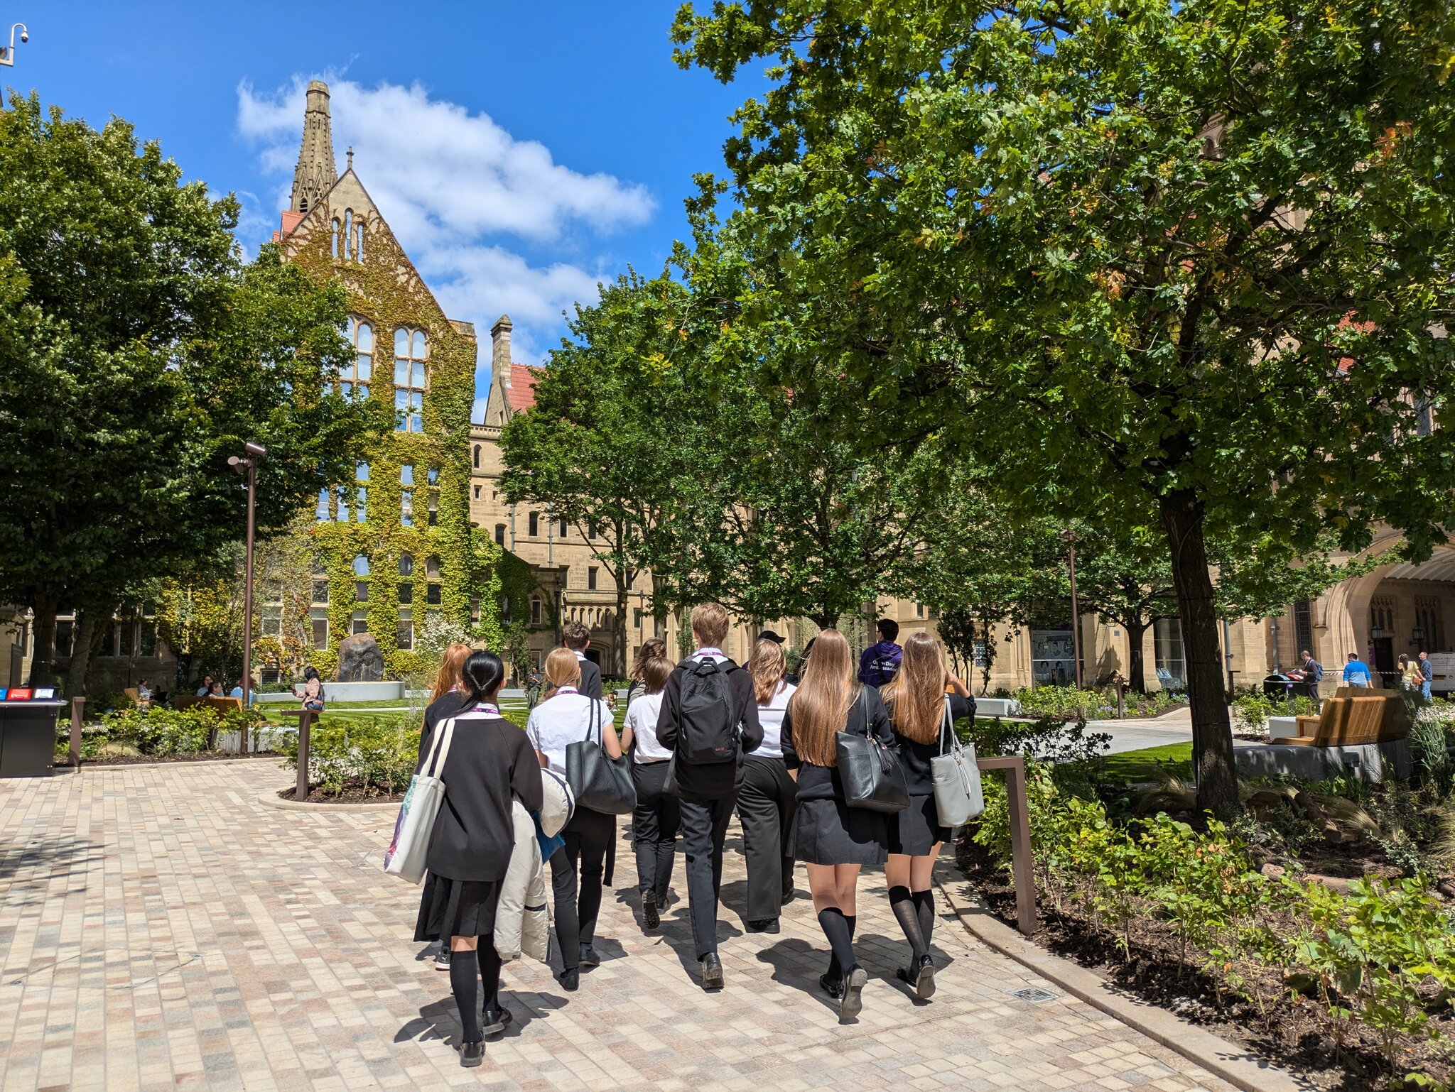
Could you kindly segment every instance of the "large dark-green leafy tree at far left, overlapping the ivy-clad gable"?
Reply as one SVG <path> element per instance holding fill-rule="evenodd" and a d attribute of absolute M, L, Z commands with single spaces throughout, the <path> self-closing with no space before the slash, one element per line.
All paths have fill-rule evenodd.
<path fill-rule="evenodd" d="M 109 618 L 240 537 L 244 441 L 268 448 L 266 534 L 388 427 L 329 390 L 342 289 L 271 252 L 243 266 L 236 222 L 124 121 L 0 111 L 0 595 L 35 609 L 32 681 L 60 606 Z"/>

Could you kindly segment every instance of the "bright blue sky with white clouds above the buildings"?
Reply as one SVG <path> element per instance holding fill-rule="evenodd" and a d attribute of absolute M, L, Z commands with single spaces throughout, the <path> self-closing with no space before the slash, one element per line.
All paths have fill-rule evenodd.
<path fill-rule="evenodd" d="M 537 364 L 562 308 L 685 236 L 691 174 L 722 173 L 728 113 L 754 87 L 682 71 L 677 0 L 627 3 L 83 3 L 4 0 L 31 41 L 0 83 L 93 125 L 162 141 L 189 177 L 243 201 L 255 253 L 287 204 L 303 84 L 333 90 L 354 166 L 453 318 L 485 343 L 515 323 Z M 698 4 L 701 6 L 701 4 Z"/>

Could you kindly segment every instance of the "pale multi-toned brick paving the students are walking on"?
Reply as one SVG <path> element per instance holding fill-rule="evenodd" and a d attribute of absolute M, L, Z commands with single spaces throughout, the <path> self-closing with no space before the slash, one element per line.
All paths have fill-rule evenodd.
<path fill-rule="evenodd" d="M 642 934 L 620 852 L 602 965 L 567 995 L 508 964 L 517 1024 L 466 1070 L 448 976 L 410 941 L 418 888 L 380 871 L 393 813 L 258 804 L 288 779 L 250 760 L 0 782 L 0 1088 L 1229 1088 L 981 947 L 943 904 L 940 989 L 917 1005 L 893 979 L 905 945 L 882 874 L 860 888 L 864 1012 L 840 1027 L 802 871 L 783 932 L 744 935 L 736 852 L 726 990 L 690 974 L 685 904 Z M 1011 995 L 1026 986 L 1055 996 Z"/>

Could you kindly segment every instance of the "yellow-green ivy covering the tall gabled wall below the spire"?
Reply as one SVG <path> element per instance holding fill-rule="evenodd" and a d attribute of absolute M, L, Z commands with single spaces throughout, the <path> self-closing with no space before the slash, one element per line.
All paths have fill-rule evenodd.
<path fill-rule="evenodd" d="M 338 233 L 336 221 L 352 224 L 349 236 Z M 445 317 L 352 170 L 281 246 L 285 259 L 311 276 L 340 281 L 349 292 L 351 314 L 372 329 L 367 397 L 394 406 L 396 330 L 423 332 L 428 342 L 422 430 L 399 429 L 370 455 L 368 477 L 356 483 L 367 497 L 362 521 L 356 491 L 342 497 L 346 522 L 335 494 L 327 500 L 329 518 L 314 522 L 308 532 L 316 547 L 314 580 L 327 579 L 329 622 L 329 647 L 314 650 L 310 662 L 324 678 L 332 676 L 339 643 L 352 634 L 355 611 L 364 612 L 367 631 L 378 641 L 394 678 L 419 666 L 416 654 L 399 644 L 402 611 L 416 633 L 429 614 L 439 612 L 487 647 L 501 649 L 503 551 L 470 526 L 474 336 Z M 410 526 L 403 522 L 406 491 L 413 502 Z M 402 573 L 400 558 L 406 555 L 412 566 Z M 367 573 L 355 571 L 359 557 L 367 560 Z M 365 601 L 356 595 L 358 585 L 367 586 Z M 431 602 L 432 586 L 436 603 Z M 402 602 L 402 587 L 407 587 L 409 602 Z M 320 596 L 310 598 L 311 609 L 322 611 Z"/>

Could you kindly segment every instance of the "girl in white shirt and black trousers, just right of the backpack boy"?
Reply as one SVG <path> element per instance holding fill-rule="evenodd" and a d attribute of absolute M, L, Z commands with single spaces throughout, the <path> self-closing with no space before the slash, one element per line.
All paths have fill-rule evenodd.
<path fill-rule="evenodd" d="M 783 760 L 783 714 L 797 689 L 789 682 L 783 644 L 762 634 L 748 662 L 762 743 L 744 759 L 738 791 L 742 855 L 748 862 L 748 932 L 778 932 L 778 910 L 793 899 L 793 778 Z"/>

